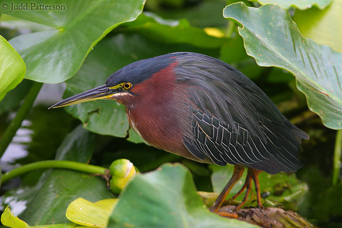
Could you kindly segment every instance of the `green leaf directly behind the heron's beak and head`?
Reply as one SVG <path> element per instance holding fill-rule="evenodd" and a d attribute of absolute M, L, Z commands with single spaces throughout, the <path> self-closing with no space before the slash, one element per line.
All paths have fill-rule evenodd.
<path fill-rule="evenodd" d="M 193 51 L 217 57 L 218 50 L 199 49 L 190 45 L 166 45 L 138 34 L 117 34 L 102 40 L 90 53 L 81 69 L 66 81 L 63 97 L 103 85 L 110 74 L 134 61 L 176 51 Z M 123 105 L 111 100 L 96 100 L 66 107 L 79 118 L 83 127 L 105 135 L 125 137 L 129 128 Z M 134 141 L 139 142 L 137 137 Z"/>

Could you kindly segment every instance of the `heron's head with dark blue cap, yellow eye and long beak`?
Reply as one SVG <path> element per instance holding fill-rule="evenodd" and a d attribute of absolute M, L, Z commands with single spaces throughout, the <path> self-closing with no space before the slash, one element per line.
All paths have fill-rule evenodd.
<path fill-rule="evenodd" d="M 159 89 L 165 89 L 163 84 L 166 82 L 161 77 L 156 79 L 157 77 L 153 76 L 169 68 L 170 64 L 175 61 L 174 56 L 177 56 L 177 53 L 131 63 L 112 73 L 104 85 L 66 98 L 49 108 L 63 107 L 99 99 L 116 100 L 128 105 L 139 100 L 138 98 L 148 97 L 151 91 L 154 91 L 154 94 L 156 94 Z M 156 86 L 156 83 L 158 86 Z"/>

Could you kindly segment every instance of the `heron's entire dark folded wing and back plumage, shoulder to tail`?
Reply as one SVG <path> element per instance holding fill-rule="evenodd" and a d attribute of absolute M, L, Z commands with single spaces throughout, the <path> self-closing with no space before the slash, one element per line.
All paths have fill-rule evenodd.
<path fill-rule="evenodd" d="M 190 56 L 189 56 L 190 55 Z M 269 173 L 302 165 L 300 140 L 308 135 L 291 124 L 270 98 L 234 67 L 195 53 L 177 56 L 178 83 L 191 103 L 191 137 L 184 145 L 217 165 L 244 164 Z"/>

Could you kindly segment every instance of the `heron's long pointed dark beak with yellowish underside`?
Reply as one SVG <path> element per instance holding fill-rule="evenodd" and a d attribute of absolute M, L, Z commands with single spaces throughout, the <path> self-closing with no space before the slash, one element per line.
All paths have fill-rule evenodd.
<path fill-rule="evenodd" d="M 115 89 L 109 89 L 107 85 L 102 85 L 94 89 L 88 90 L 86 92 L 79 93 L 72 97 L 66 98 L 62 101 L 59 101 L 58 103 L 49 107 L 49 109 L 68 106 L 71 104 L 83 103 L 91 100 L 110 99 L 110 97 L 117 92 L 118 91 Z"/>

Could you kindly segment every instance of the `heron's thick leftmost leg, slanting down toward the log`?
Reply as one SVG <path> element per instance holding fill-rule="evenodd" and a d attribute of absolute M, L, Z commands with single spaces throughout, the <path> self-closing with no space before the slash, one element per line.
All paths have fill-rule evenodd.
<path fill-rule="evenodd" d="M 241 178 L 243 172 L 244 172 L 244 167 L 243 165 L 235 165 L 234 166 L 234 171 L 231 179 L 229 182 L 225 185 L 223 188 L 221 194 L 217 197 L 216 201 L 213 203 L 213 205 L 210 207 L 210 210 L 212 212 L 217 212 L 220 206 L 222 205 L 223 201 L 225 198 L 228 196 L 228 194 L 231 192 L 232 188 L 238 182 L 238 180 Z"/>

